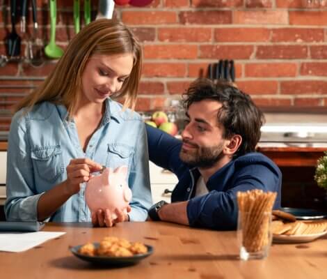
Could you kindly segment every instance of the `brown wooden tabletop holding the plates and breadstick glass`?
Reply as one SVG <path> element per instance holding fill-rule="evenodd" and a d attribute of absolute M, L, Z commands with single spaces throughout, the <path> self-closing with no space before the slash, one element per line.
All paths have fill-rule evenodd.
<path fill-rule="evenodd" d="M 327 238 L 305 244 L 274 244 L 266 259 L 238 259 L 236 232 L 191 229 L 170 223 L 123 223 L 92 228 L 85 223 L 48 224 L 67 234 L 26 252 L 0 252 L 1 278 L 326 278 Z M 135 266 L 109 269 L 74 257 L 70 246 L 119 236 L 154 246 Z"/>

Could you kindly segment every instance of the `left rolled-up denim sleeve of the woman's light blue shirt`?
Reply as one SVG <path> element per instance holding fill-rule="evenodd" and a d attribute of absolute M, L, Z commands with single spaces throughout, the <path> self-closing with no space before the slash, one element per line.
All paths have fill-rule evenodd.
<path fill-rule="evenodd" d="M 34 221 L 38 219 L 33 164 L 31 162 L 26 119 L 15 114 L 10 125 L 7 153 L 6 204 L 7 220 Z"/>

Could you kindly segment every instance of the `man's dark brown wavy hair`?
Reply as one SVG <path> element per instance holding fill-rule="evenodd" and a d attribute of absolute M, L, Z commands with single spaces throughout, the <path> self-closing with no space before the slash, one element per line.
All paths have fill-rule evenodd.
<path fill-rule="evenodd" d="M 264 114 L 253 103 L 248 94 L 227 82 L 214 83 L 200 78 L 192 82 L 183 94 L 186 110 L 190 105 L 201 100 L 216 100 L 222 104 L 217 114 L 217 123 L 223 126 L 223 138 L 241 135 L 242 143 L 235 156 L 255 151 L 260 140 L 260 128 L 264 123 Z"/>

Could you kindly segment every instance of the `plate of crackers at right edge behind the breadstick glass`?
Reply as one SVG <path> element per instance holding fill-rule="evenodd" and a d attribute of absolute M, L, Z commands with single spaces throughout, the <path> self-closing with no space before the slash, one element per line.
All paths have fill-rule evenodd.
<path fill-rule="evenodd" d="M 285 211 L 273 210 L 271 223 L 274 243 L 303 243 L 327 234 L 327 220 L 296 220 Z"/>

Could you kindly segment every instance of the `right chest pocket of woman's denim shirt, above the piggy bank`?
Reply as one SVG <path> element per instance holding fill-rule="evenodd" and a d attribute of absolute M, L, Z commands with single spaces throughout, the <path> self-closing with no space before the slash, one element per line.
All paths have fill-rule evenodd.
<path fill-rule="evenodd" d="M 108 144 L 106 166 L 120 167 L 126 165 L 130 169 L 134 148 L 126 144 Z"/>

